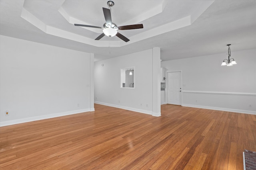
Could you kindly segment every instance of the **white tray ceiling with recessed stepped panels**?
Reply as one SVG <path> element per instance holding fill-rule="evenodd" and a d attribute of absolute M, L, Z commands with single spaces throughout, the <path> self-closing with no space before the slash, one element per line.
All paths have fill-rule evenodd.
<path fill-rule="evenodd" d="M 108 0 L 0 0 L 0 34 L 94 53 L 103 60 L 161 48 L 163 61 L 256 48 L 256 0 L 113 0 L 112 22 L 143 23 L 94 40 Z"/>

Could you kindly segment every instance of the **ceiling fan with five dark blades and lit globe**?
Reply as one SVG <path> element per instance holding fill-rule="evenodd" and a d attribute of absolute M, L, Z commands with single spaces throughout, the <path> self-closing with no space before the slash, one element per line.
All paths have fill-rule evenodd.
<path fill-rule="evenodd" d="M 114 6 L 114 2 L 113 1 L 108 1 L 107 4 L 110 7 L 110 9 L 102 8 L 103 13 L 104 13 L 104 17 L 105 17 L 105 20 L 106 20 L 106 23 L 103 24 L 103 27 L 92 26 L 92 25 L 82 25 L 82 24 L 76 24 L 76 23 L 74 25 L 75 26 L 81 26 L 81 27 L 92 27 L 92 28 L 103 29 L 103 33 L 100 34 L 95 40 L 101 39 L 102 37 L 104 37 L 104 35 L 106 35 L 108 37 L 113 37 L 113 36 L 116 35 L 117 37 L 124 40 L 125 42 L 130 41 L 130 39 L 128 39 L 124 35 L 120 34 L 118 32 L 118 30 L 140 29 L 140 28 L 143 28 L 143 24 L 125 25 L 125 26 L 119 26 L 118 27 L 115 23 L 112 22 L 112 19 L 111 19 L 111 7 Z"/>

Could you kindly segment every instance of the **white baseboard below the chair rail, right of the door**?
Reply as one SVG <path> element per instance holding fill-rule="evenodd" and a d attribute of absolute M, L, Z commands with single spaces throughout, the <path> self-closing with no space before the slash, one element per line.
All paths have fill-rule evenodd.
<path fill-rule="evenodd" d="M 199 105 L 192 105 L 192 104 L 182 104 L 182 106 L 195 107 L 195 108 L 201 108 L 201 109 L 230 111 L 230 112 L 236 112 L 236 113 L 246 113 L 246 114 L 256 115 L 256 111 L 250 111 L 250 110 L 229 109 L 229 108 L 211 107 L 211 106 L 199 106 Z"/>

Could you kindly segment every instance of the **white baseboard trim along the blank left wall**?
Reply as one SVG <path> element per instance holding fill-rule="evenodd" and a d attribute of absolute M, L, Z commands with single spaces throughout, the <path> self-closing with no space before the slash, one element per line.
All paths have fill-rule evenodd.
<path fill-rule="evenodd" d="M 26 122 L 30 122 L 30 121 L 50 119 L 50 118 L 61 117 L 61 116 L 66 116 L 66 115 L 73 115 L 73 114 L 83 113 L 83 112 L 88 112 L 88 111 L 90 111 L 90 109 L 80 109 L 80 110 L 74 110 L 74 111 L 66 111 L 66 112 L 62 112 L 62 113 L 54 113 L 54 114 L 49 114 L 49 115 L 27 117 L 27 118 L 23 118 L 23 119 L 15 119 L 15 120 L 10 120 L 10 121 L 2 121 L 2 122 L 0 122 L 0 127 L 20 124 L 20 123 L 26 123 Z"/>

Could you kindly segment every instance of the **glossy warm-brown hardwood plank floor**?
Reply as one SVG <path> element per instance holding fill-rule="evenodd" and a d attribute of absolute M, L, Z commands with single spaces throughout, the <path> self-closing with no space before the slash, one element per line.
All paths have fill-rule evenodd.
<path fill-rule="evenodd" d="M 94 112 L 0 127 L 0 169 L 242 170 L 256 115 L 162 105 L 162 116 Z"/>

